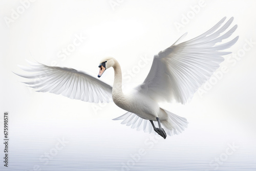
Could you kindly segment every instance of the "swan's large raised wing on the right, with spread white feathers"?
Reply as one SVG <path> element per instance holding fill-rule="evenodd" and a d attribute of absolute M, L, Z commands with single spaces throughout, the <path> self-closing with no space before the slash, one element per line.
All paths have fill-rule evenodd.
<path fill-rule="evenodd" d="M 222 50 L 231 47 L 238 40 L 237 36 L 229 42 L 217 44 L 237 29 L 235 25 L 225 32 L 233 17 L 218 29 L 225 18 L 204 34 L 178 45 L 175 43 L 155 55 L 150 72 L 137 90 L 159 102 L 176 100 L 186 103 L 219 68 L 224 60 L 222 55 L 231 53 Z M 225 33 L 220 36 L 223 32 Z"/>

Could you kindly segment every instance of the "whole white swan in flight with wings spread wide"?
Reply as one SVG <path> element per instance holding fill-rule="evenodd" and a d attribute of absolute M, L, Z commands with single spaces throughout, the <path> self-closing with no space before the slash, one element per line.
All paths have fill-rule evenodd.
<path fill-rule="evenodd" d="M 29 62 L 30 67 L 22 67 L 29 75 L 17 74 L 30 79 L 24 82 L 38 92 L 61 94 L 72 99 L 87 102 L 111 102 L 127 111 L 113 120 L 133 129 L 159 134 L 164 139 L 179 134 L 187 127 L 187 120 L 161 106 L 160 102 L 186 103 L 200 86 L 219 68 L 223 55 L 231 52 L 225 50 L 236 43 L 239 36 L 221 43 L 237 29 L 234 25 L 228 31 L 233 17 L 220 27 L 226 17 L 219 23 L 188 41 L 180 42 L 182 35 L 172 46 L 154 56 L 152 67 L 145 80 L 127 94 L 122 90 L 122 72 L 118 61 L 105 57 L 99 63 L 99 74 L 114 68 L 113 87 L 99 78 L 83 71 L 65 67 L 50 67 L 39 62 Z M 225 32 L 226 31 L 226 32 Z M 223 33 L 224 32 L 224 33 Z M 223 33 L 222 35 L 220 35 Z M 218 43 L 218 44 L 217 44 Z M 40 77 L 39 80 L 33 79 Z M 158 127 L 156 127 L 158 125 Z"/>

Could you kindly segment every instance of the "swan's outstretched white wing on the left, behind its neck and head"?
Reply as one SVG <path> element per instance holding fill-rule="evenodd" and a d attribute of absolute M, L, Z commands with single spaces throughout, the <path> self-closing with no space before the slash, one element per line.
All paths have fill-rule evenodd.
<path fill-rule="evenodd" d="M 29 62 L 29 61 L 28 61 Z M 99 79 L 71 68 L 49 67 L 41 63 L 29 62 L 30 67 L 21 67 L 30 75 L 20 75 L 30 79 L 28 84 L 38 92 L 61 94 L 71 99 L 88 102 L 112 101 L 112 87 Z"/>

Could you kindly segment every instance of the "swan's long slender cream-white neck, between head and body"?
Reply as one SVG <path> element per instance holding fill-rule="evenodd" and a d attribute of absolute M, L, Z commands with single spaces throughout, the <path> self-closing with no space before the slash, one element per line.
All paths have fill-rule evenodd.
<path fill-rule="evenodd" d="M 113 66 L 113 68 L 115 72 L 115 78 L 112 90 L 112 97 L 113 101 L 118 105 L 118 103 L 121 102 L 124 98 L 124 95 L 122 92 L 122 71 L 117 60 L 115 60 L 115 65 Z"/>

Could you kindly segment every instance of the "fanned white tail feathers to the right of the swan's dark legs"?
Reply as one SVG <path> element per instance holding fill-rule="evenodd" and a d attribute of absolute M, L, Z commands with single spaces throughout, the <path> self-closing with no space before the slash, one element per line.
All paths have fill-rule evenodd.
<path fill-rule="evenodd" d="M 175 134 L 180 134 L 182 131 L 185 130 L 185 128 L 187 127 L 187 124 L 188 124 L 186 118 L 180 117 L 180 116 L 175 115 L 174 113 L 166 111 L 166 110 L 164 110 L 164 111 L 168 115 L 168 119 L 161 121 L 161 123 L 163 124 L 163 127 L 165 127 L 164 130 L 165 130 L 166 134 L 172 136 Z"/>

